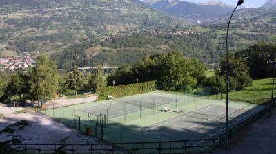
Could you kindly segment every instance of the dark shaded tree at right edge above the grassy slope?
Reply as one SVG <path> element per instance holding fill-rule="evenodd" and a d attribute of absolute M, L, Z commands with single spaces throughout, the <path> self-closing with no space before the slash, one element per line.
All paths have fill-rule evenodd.
<path fill-rule="evenodd" d="M 272 76 L 273 67 L 267 65 L 268 60 L 275 61 L 276 44 L 257 43 L 246 50 L 235 53 L 235 57 L 246 59 L 246 64 L 250 67 L 252 78 L 267 78 Z"/>

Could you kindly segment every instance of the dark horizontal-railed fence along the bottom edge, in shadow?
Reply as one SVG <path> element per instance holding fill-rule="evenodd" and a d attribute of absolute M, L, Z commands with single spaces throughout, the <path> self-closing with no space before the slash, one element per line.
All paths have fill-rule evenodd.
<path fill-rule="evenodd" d="M 167 142 L 128 142 L 107 144 L 9 144 L 13 151 L 32 153 L 66 152 L 66 153 L 214 153 L 215 140 L 195 139 Z M 204 142 L 197 146 L 189 146 L 193 142 Z M 126 148 L 128 147 L 128 148 Z"/>

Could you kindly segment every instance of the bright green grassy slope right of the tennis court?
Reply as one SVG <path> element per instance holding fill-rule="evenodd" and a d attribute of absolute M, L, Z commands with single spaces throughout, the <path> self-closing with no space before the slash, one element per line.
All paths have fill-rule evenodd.
<path fill-rule="evenodd" d="M 242 91 L 232 91 L 229 93 L 230 100 L 237 100 L 239 102 L 248 102 L 251 104 L 263 104 L 270 100 L 272 89 L 272 79 L 258 79 L 253 80 L 253 85 L 246 87 Z M 274 92 L 274 96 L 276 91 Z M 211 96 L 212 98 L 221 98 L 221 94 L 217 96 Z M 223 94 L 223 98 L 226 98 L 226 94 Z"/>

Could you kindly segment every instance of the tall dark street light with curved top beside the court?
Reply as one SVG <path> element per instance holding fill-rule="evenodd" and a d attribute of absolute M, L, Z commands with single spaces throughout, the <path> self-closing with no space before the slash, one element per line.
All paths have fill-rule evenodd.
<path fill-rule="evenodd" d="M 230 27 L 230 22 L 231 19 L 233 17 L 233 14 L 235 12 L 235 10 L 237 10 L 237 7 L 242 5 L 242 3 L 244 3 L 244 0 L 239 0 L 237 2 L 237 6 L 235 7 L 235 9 L 233 10 L 231 17 L 229 19 L 229 23 L 228 23 L 228 28 L 227 28 L 227 34 L 226 34 L 226 148 L 228 148 L 229 145 L 229 137 L 228 137 L 228 108 L 229 108 L 229 97 L 228 97 L 228 92 L 229 92 L 229 63 L 228 63 L 228 31 L 229 31 L 229 27 Z"/>

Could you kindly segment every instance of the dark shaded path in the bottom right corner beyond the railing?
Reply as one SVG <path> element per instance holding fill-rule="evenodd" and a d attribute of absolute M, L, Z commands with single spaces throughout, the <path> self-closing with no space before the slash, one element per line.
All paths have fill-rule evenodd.
<path fill-rule="evenodd" d="M 217 149 L 217 154 L 276 153 L 276 110 L 273 118 L 262 118 L 245 129 L 231 144 L 230 151 Z"/>

